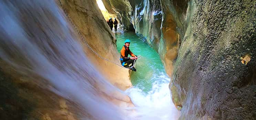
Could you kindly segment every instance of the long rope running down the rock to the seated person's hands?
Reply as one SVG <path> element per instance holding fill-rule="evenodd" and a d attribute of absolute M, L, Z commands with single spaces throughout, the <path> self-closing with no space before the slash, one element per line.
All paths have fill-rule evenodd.
<path fill-rule="evenodd" d="M 113 61 L 110 61 L 109 59 L 106 59 L 106 58 L 102 57 L 101 55 L 99 55 L 97 52 L 95 52 L 95 51 L 93 50 L 93 48 L 90 47 L 89 44 L 85 41 L 84 36 L 82 35 L 81 31 L 79 31 L 79 30 L 77 29 L 77 27 L 76 27 L 76 25 L 74 24 L 74 22 L 72 21 L 71 17 L 67 14 L 67 11 L 64 9 L 64 7 L 63 7 L 61 1 L 60 1 L 60 0 L 58 0 L 58 1 L 60 2 L 61 7 L 62 7 L 62 10 L 64 11 L 66 17 L 68 18 L 68 20 L 70 21 L 70 23 L 72 24 L 72 26 L 75 28 L 75 30 L 76 30 L 76 32 L 78 33 L 78 35 L 80 35 L 80 37 L 82 38 L 82 40 L 85 42 L 86 46 L 87 46 L 95 55 L 97 55 L 98 57 L 104 59 L 105 61 L 108 61 L 108 62 L 110 62 L 110 63 L 116 64 L 117 66 L 120 66 L 120 67 L 122 67 L 122 68 L 129 69 L 129 68 L 134 67 L 136 59 L 135 59 L 135 61 L 134 61 L 134 64 L 133 64 L 131 67 L 128 67 L 128 68 L 127 68 L 127 67 L 124 67 L 124 66 L 122 66 L 122 65 L 120 65 L 120 64 L 117 64 L 117 63 L 115 63 L 115 62 L 113 62 Z M 140 57 L 141 57 L 141 56 L 140 56 Z"/>

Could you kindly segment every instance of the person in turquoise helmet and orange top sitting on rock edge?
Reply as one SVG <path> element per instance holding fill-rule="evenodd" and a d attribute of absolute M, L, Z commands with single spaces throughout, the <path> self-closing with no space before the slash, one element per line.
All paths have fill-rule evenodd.
<path fill-rule="evenodd" d="M 130 40 L 125 40 L 125 45 L 122 47 L 120 53 L 121 53 L 121 56 L 120 56 L 120 62 L 122 64 L 122 66 L 128 68 L 128 67 L 131 67 L 134 65 L 134 61 L 138 58 L 136 55 L 134 55 L 130 49 L 129 49 L 129 46 L 130 46 Z M 128 54 L 131 55 L 132 57 L 128 57 Z M 136 71 L 136 69 L 134 67 L 132 68 L 129 68 L 133 71 Z"/>

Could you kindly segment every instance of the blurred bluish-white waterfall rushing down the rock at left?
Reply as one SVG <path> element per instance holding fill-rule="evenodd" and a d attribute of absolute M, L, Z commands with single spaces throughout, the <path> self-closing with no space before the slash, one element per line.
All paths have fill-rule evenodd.
<path fill-rule="evenodd" d="M 90 64 L 77 33 L 54 1 L 1 1 L 0 12 L 2 60 L 89 114 L 81 119 L 128 119 L 109 99 L 125 93 Z"/>

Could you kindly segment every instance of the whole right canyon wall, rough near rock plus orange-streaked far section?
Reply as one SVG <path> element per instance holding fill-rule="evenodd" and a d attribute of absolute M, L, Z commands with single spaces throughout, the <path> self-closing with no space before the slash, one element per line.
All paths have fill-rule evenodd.
<path fill-rule="evenodd" d="M 103 1 L 159 53 L 181 119 L 256 119 L 255 0 Z"/>

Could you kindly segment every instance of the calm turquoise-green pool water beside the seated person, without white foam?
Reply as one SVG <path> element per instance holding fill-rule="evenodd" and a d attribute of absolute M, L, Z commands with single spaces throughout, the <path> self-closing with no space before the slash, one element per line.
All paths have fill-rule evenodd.
<path fill-rule="evenodd" d="M 152 89 L 152 83 L 161 81 L 162 77 L 160 76 L 167 76 L 158 53 L 146 42 L 143 42 L 135 33 L 119 33 L 116 35 L 116 39 L 119 53 L 122 46 L 124 46 L 124 41 L 129 39 L 131 41 L 131 52 L 141 56 L 135 64 L 137 72 L 131 72 L 131 83 L 133 86 L 148 92 Z"/>

